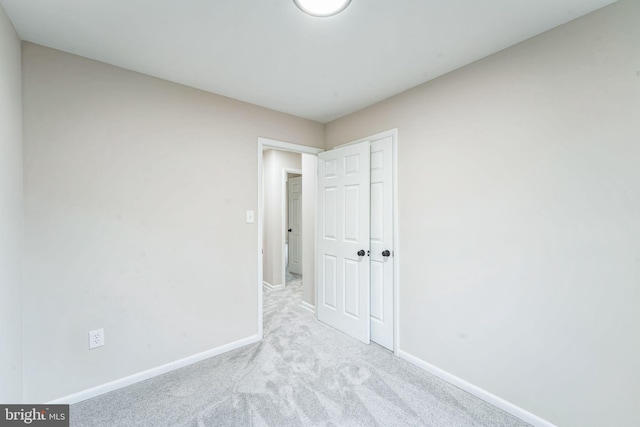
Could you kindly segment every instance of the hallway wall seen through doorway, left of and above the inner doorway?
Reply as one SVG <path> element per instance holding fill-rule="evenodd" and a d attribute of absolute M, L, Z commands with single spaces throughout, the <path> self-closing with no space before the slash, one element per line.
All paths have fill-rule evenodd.
<path fill-rule="evenodd" d="M 295 141 L 294 141 L 295 142 Z M 301 169 L 300 153 L 265 150 L 263 280 L 272 286 L 285 284 L 282 277 L 282 169 Z"/>

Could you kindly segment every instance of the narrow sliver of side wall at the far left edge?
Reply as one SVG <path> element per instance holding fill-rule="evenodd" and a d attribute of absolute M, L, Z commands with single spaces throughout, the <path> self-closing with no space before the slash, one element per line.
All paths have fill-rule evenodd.
<path fill-rule="evenodd" d="M 22 401 L 20 39 L 0 6 L 0 402 Z"/>

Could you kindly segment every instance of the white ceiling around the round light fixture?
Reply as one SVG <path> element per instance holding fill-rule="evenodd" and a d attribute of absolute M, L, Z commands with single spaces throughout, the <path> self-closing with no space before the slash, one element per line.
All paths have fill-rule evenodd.
<path fill-rule="evenodd" d="M 328 122 L 611 0 L 0 0 L 33 43 Z"/>

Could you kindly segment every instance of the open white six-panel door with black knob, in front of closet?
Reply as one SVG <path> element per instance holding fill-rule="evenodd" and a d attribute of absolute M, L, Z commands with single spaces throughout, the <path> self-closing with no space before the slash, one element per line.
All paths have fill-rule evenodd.
<path fill-rule="evenodd" d="M 318 319 L 370 340 L 370 144 L 318 155 Z"/>

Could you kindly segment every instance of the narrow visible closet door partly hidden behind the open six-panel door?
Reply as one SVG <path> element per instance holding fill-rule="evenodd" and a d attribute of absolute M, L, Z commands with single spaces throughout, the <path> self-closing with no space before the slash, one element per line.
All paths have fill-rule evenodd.
<path fill-rule="evenodd" d="M 371 341 L 393 350 L 393 140 L 371 143 Z"/>

